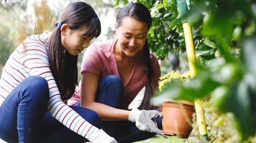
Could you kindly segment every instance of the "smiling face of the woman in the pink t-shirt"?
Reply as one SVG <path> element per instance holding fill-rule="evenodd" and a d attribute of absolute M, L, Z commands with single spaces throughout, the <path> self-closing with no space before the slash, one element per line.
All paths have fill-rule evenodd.
<path fill-rule="evenodd" d="M 143 48 L 147 34 L 146 23 L 126 17 L 122 19 L 121 25 L 116 27 L 117 47 L 121 48 L 126 56 L 135 56 Z"/>

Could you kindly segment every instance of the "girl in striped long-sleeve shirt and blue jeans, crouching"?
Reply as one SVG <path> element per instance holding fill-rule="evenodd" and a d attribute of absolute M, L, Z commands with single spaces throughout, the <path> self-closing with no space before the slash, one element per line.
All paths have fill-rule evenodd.
<path fill-rule="evenodd" d="M 8 143 L 117 143 L 99 116 L 67 106 L 74 94 L 78 54 L 101 33 L 94 9 L 70 3 L 52 32 L 27 37 L 0 78 L 0 138 Z M 8 119 L 8 120 L 7 120 Z"/>

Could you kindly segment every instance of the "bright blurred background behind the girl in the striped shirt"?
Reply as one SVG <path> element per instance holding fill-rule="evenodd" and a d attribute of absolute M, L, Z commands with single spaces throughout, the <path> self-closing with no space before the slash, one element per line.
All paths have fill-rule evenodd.
<path fill-rule="evenodd" d="M 51 31 L 62 9 L 77 0 L 2 0 L 0 3 L 0 73 L 10 53 L 28 35 Z M 115 35 L 115 15 L 111 1 L 81 0 L 94 7 L 101 19 L 101 36 L 92 42 L 110 39 Z M 81 64 L 79 56 L 78 66 Z M 80 78 L 80 77 L 79 77 Z"/>

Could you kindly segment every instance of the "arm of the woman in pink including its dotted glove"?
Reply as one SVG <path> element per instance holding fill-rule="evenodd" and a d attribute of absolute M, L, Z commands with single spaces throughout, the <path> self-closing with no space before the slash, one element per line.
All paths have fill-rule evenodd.
<path fill-rule="evenodd" d="M 95 102 L 99 83 L 99 75 L 82 72 L 81 79 L 81 106 L 90 108 L 97 112 L 102 120 L 129 120 L 136 122 L 136 126 L 141 131 L 155 132 L 166 137 L 152 120 L 154 117 L 162 117 L 162 113 L 154 110 L 138 110 L 133 108 L 131 111 L 116 109 L 101 103 Z"/>

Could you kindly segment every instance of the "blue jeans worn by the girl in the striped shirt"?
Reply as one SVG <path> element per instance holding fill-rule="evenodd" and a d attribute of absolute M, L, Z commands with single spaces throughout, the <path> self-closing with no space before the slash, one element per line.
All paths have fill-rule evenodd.
<path fill-rule="evenodd" d="M 49 87 L 40 76 L 30 76 L 14 88 L 0 106 L 0 138 L 7 143 L 84 143 L 47 110 Z M 70 106 L 100 128 L 100 117 L 87 108 Z"/>

